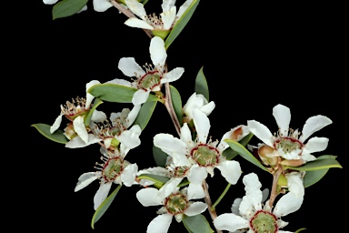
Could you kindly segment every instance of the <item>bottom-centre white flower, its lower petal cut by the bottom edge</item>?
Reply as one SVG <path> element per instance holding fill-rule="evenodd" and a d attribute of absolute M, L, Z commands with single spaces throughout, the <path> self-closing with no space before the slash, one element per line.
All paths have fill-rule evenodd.
<path fill-rule="evenodd" d="M 157 211 L 159 216 L 149 223 L 146 232 L 166 233 L 174 217 L 177 222 L 181 222 L 183 215 L 195 216 L 203 213 L 207 208 L 207 204 L 201 201 L 191 201 L 191 198 L 188 198 L 189 192 L 187 187 L 181 190 L 179 190 L 179 187 L 175 187 L 171 192 L 164 192 L 165 196 L 163 196 L 155 187 L 140 189 L 136 193 L 136 198 L 143 206 L 163 205 L 163 207 Z"/>

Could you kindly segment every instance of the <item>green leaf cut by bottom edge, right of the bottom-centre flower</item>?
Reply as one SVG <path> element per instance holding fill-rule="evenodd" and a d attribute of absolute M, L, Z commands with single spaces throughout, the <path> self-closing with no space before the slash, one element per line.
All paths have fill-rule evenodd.
<path fill-rule="evenodd" d="M 210 227 L 207 219 L 202 214 L 195 216 L 183 215 L 184 227 L 190 233 L 213 233 L 214 230 Z"/>

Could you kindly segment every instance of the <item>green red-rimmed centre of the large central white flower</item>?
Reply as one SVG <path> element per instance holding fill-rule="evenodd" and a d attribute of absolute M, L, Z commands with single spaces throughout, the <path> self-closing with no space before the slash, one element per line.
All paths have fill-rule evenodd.
<path fill-rule="evenodd" d="M 192 150 L 192 157 L 198 165 L 206 167 L 217 164 L 220 154 L 215 147 L 201 144 Z"/>

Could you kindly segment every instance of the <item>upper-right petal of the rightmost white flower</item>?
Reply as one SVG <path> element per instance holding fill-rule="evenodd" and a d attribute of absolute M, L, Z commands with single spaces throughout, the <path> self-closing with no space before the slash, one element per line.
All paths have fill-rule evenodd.
<path fill-rule="evenodd" d="M 319 131 L 323 127 L 332 124 L 332 120 L 328 117 L 321 115 L 309 117 L 304 124 L 302 129 L 302 136 L 299 137 L 301 142 L 304 142 L 308 137 L 314 134 L 314 132 Z"/>

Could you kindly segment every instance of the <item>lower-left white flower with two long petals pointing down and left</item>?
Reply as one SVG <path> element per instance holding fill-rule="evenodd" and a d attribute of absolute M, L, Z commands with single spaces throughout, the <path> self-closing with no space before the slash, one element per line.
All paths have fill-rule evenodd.
<path fill-rule="evenodd" d="M 95 209 L 97 209 L 107 198 L 112 184 L 124 184 L 126 187 L 131 187 L 135 182 L 135 176 L 138 170 L 136 164 L 130 164 L 124 158 L 129 151 L 128 148 L 120 145 L 120 150 L 114 152 L 107 151 L 101 147 L 101 153 L 103 157 L 102 164 L 98 164 L 100 167 L 96 167 L 99 171 L 86 172 L 78 178 L 75 192 L 88 186 L 96 179 L 100 179 L 100 186 L 95 193 L 94 203 Z"/>

